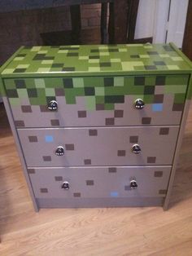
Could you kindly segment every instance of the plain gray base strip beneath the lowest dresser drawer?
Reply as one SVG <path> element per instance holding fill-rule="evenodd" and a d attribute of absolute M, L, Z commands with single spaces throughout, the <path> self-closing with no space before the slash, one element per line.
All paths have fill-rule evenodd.
<path fill-rule="evenodd" d="M 164 197 L 140 198 L 37 198 L 39 208 L 92 208 L 92 207 L 142 207 L 162 206 Z"/>

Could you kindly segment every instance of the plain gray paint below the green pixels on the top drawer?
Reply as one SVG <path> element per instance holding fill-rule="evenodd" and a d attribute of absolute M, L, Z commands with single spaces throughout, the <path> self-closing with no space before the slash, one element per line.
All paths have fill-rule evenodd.
<path fill-rule="evenodd" d="M 124 96 L 124 104 L 115 104 L 115 110 L 123 110 L 123 117 L 115 117 L 114 110 L 87 111 L 85 97 L 76 97 L 76 104 L 66 104 L 63 96 L 57 96 L 57 112 L 42 113 L 40 106 L 31 105 L 27 98 L 21 99 L 21 105 L 30 105 L 31 113 L 23 113 L 21 106 L 11 106 L 11 110 L 15 121 L 24 121 L 26 127 L 51 127 L 51 120 L 55 119 L 59 120 L 60 127 L 106 126 L 106 118 L 114 118 L 114 126 L 145 126 L 142 117 L 151 117 L 151 126 L 180 124 L 182 112 L 172 111 L 173 95 L 164 95 L 162 111 L 153 111 L 153 104 L 138 110 L 134 107 L 136 99 L 137 96 Z M 86 111 L 86 117 L 78 117 L 78 111 Z"/>

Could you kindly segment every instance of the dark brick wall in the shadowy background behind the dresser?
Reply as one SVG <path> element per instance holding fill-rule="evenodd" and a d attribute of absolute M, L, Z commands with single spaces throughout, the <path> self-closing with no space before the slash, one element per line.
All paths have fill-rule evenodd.
<path fill-rule="evenodd" d="M 100 26 L 100 8 L 100 4 L 81 6 L 82 29 Z M 0 65 L 22 45 L 41 45 L 41 33 L 71 29 L 69 7 L 1 13 L 0 24 Z"/>

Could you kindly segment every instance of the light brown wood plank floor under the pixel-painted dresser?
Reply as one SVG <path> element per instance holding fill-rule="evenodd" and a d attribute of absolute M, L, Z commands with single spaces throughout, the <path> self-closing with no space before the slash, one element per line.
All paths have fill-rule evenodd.
<path fill-rule="evenodd" d="M 192 255 L 192 105 L 170 209 L 59 209 L 35 213 L 0 107 L 0 255 Z"/>

